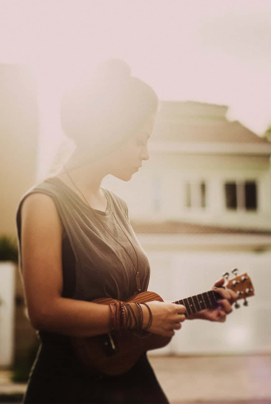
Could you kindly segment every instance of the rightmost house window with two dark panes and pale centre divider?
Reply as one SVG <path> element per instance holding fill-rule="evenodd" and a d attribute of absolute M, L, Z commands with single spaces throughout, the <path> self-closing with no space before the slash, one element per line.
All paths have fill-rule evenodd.
<path fill-rule="evenodd" d="M 225 202 L 228 209 L 257 209 L 256 181 L 231 181 L 224 184 Z"/>

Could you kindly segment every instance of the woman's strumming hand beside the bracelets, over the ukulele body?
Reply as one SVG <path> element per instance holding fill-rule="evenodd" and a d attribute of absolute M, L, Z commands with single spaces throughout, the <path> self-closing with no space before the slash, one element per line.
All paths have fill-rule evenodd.
<path fill-rule="evenodd" d="M 160 301 L 151 301 L 147 305 L 152 312 L 152 324 L 148 328 L 148 332 L 162 335 L 163 337 L 172 337 L 174 330 L 180 330 L 185 320 L 184 313 L 185 306 Z M 146 327 L 149 320 L 149 313 L 147 307 L 141 306 L 143 310 L 143 328 Z"/>

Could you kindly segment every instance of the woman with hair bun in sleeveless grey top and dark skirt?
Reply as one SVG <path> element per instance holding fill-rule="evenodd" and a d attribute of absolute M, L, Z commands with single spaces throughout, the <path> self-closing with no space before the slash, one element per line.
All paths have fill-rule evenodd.
<path fill-rule="evenodd" d="M 108 174 L 129 181 L 148 160 L 156 111 L 152 88 L 116 60 L 62 99 L 62 124 L 76 149 L 61 171 L 23 196 L 17 211 L 28 314 L 41 342 L 25 403 L 168 402 L 145 354 L 123 375 L 106 376 L 85 366 L 71 343 L 121 327 L 172 336 L 185 319 L 184 306 L 172 303 L 154 301 L 121 314 L 120 307 L 91 302 L 125 301 L 147 290 L 150 266 L 127 205 L 101 182 Z M 222 284 L 215 284 L 219 306 L 197 318 L 225 320 L 236 295 Z"/>

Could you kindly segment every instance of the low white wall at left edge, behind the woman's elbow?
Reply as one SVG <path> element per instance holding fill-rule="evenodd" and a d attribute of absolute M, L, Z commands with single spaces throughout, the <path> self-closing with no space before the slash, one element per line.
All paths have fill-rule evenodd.
<path fill-rule="evenodd" d="M 10 366 L 13 360 L 14 284 L 13 263 L 0 262 L 0 367 Z"/>

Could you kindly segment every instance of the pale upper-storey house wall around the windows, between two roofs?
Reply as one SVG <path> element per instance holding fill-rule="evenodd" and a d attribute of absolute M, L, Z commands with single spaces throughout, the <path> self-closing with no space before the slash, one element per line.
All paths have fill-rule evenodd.
<path fill-rule="evenodd" d="M 269 158 L 265 156 L 153 154 L 129 182 L 108 176 L 103 185 L 126 200 L 133 220 L 176 220 L 271 229 L 269 170 Z M 228 210 L 224 182 L 250 179 L 257 181 L 258 209 Z M 206 183 L 206 208 L 186 208 L 183 203 L 184 184 L 202 180 Z M 157 196 L 160 210 L 153 205 Z"/>

